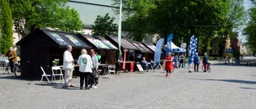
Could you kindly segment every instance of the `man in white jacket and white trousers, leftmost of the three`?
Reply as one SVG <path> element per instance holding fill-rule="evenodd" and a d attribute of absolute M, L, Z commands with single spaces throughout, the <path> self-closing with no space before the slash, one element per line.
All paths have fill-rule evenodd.
<path fill-rule="evenodd" d="M 64 52 L 63 55 L 63 69 L 65 69 L 65 83 L 64 83 L 64 87 L 65 88 L 70 88 L 70 87 L 74 87 L 73 85 L 71 85 L 71 80 L 72 80 L 72 76 L 73 76 L 73 68 L 74 68 L 74 58 L 72 56 L 72 46 L 68 45 L 66 47 L 66 51 Z"/>

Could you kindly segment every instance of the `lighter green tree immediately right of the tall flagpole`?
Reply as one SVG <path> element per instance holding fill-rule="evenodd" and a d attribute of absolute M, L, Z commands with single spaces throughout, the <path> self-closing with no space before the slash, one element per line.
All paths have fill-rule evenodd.
<path fill-rule="evenodd" d="M 119 4 L 120 0 L 114 0 L 115 6 L 119 6 Z M 122 30 L 129 31 L 129 37 L 134 41 L 146 39 L 146 33 L 154 33 L 150 31 L 149 22 L 150 10 L 154 8 L 152 0 L 126 0 L 123 2 L 123 18 L 126 20 L 122 23 Z"/>

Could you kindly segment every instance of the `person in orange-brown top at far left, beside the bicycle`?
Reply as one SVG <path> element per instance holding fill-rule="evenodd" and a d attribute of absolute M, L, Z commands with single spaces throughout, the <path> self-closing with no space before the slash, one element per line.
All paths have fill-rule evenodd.
<path fill-rule="evenodd" d="M 14 72 L 14 63 L 18 61 L 17 53 L 14 51 L 14 48 L 10 47 L 9 51 L 3 54 L 2 57 L 3 56 L 8 56 L 10 72 Z"/>

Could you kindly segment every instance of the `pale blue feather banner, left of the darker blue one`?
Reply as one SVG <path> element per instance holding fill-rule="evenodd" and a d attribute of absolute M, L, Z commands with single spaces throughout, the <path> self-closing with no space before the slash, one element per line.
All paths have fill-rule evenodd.
<path fill-rule="evenodd" d="M 164 39 L 161 38 L 158 40 L 157 45 L 154 50 L 154 66 L 157 65 L 157 63 L 160 63 L 160 57 L 162 53 L 162 44 L 163 44 Z"/>

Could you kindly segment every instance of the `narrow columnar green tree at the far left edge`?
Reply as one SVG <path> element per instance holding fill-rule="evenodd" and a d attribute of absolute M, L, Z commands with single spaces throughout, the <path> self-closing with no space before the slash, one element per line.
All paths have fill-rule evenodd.
<path fill-rule="evenodd" d="M 6 53 L 13 46 L 13 20 L 7 0 L 0 0 L 0 14 L 0 52 Z"/>

